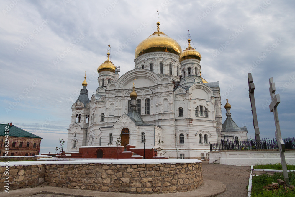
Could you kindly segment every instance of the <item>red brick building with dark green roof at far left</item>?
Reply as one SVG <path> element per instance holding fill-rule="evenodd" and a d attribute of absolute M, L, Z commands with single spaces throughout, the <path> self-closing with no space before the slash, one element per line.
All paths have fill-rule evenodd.
<path fill-rule="evenodd" d="M 7 156 L 38 155 L 42 139 L 12 123 L 0 124 L 0 156 L 6 156 L 7 153 Z"/>

